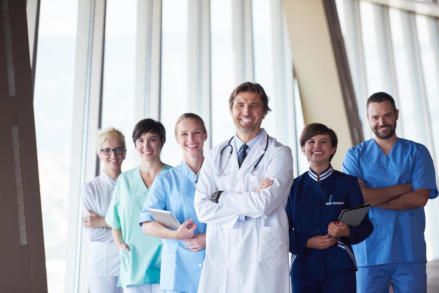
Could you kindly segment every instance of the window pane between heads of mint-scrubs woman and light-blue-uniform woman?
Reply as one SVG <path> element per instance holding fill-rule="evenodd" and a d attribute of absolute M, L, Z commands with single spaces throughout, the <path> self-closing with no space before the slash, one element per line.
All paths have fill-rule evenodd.
<path fill-rule="evenodd" d="M 175 142 L 178 117 L 193 111 L 188 102 L 188 17 L 187 0 L 162 1 L 162 85 L 160 120 L 166 129 L 162 150 L 164 163 L 177 166 L 181 149 Z M 191 110 L 192 109 L 192 110 Z"/>

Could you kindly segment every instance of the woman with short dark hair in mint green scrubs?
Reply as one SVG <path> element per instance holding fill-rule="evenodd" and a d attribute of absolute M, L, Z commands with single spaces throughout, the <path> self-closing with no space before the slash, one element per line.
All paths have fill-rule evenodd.
<path fill-rule="evenodd" d="M 157 174 L 172 168 L 162 163 L 160 151 L 165 128 L 153 119 L 140 120 L 133 141 L 141 158 L 140 166 L 119 175 L 105 222 L 112 227 L 120 254 L 118 286 L 124 293 L 155 292 L 160 282 L 162 241 L 145 235 L 138 226 L 139 214 Z"/>

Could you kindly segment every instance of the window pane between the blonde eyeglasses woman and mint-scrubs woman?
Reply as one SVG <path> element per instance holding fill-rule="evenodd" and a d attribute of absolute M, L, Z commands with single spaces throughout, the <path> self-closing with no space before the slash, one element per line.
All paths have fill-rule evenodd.
<path fill-rule="evenodd" d="M 137 1 L 108 0 L 105 15 L 104 84 L 102 129 L 115 127 L 126 140 L 126 159 L 122 171 L 138 165 L 131 134 L 137 121 L 134 113 L 136 64 Z"/>

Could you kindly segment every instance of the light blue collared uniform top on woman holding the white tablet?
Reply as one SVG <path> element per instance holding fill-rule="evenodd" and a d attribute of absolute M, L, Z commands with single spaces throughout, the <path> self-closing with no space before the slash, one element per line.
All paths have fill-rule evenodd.
<path fill-rule="evenodd" d="M 139 224 L 154 221 L 146 208 L 171 211 L 180 223 L 193 218 L 197 224 L 195 234 L 206 233 L 206 224 L 198 221 L 194 209 L 194 195 L 198 175 L 184 160 L 166 172 L 158 174 L 145 200 Z M 194 252 L 184 240 L 162 239 L 162 269 L 160 289 L 196 293 L 204 263 L 205 249 Z"/>

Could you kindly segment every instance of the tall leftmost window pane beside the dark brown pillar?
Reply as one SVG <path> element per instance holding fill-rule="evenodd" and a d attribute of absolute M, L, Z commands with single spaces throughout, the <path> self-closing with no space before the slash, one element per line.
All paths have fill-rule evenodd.
<path fill-rule="evenodd" d="M 78 1 L 40 5 L 33 102 L 47 289 L 59 293 L 65 292 L 66 279 Z"/>

